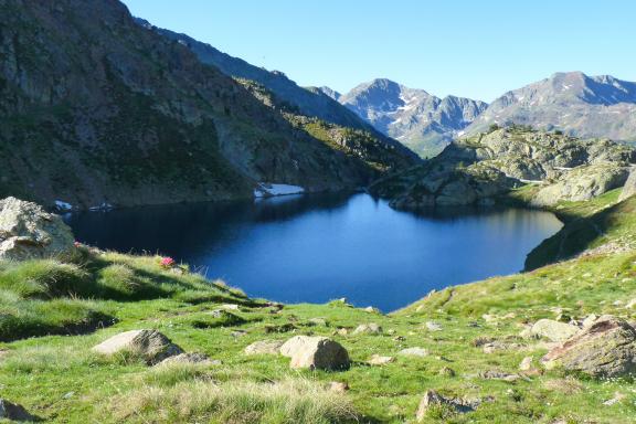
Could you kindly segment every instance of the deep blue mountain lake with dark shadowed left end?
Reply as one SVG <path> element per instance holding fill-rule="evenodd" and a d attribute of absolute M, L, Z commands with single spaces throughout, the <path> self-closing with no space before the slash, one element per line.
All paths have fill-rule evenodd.
<path fill-rule="evenodd" d="M 416 215 L 368 194 L 145 206 L 65 219 L 82 242 L 159 252 L 253 297 L 347 297 L 384 311 L 433 288 L 516 273 L 562 225 L 551 213 L 521 209 Z"/>

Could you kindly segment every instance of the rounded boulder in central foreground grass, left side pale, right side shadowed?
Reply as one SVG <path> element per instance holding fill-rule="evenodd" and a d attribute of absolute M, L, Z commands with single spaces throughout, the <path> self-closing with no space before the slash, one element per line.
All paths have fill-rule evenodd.
<path fill-rule="evenodd" d="M 343 370 L 350 364 L 347 349 L 327 337 L 293 337 L 280 347 L 280 353 L 292 358 L 292 368 Z"/>

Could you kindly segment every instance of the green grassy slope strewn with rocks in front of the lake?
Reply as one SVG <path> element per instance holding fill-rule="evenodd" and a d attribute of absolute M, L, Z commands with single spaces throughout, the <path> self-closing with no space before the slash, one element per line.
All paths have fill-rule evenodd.
<path fill-rule="evenodd" d="M 590 219 L 590 211 L 605 200 L 601 213 L 603 222 L 611 225 L 604 240 L 634 234 L 634 221 L 624 212 L 636 205 L 636 198 L 605 209 L 612 195 L 595 201 L 598 203 L 561 205 L 561 213 L 571 222 Z M 1 396 L 54 422 L 329 423 L 350 421 L 356 410 L 362 422 L 400 423 L 413 420 L 427 389 L 451 396 L 494 396 L 492 402 L 469 414 L 436 410 L 431 414 L 433 423 L 552 423 L 558 418 L 629 423 L 636 416 L 636 394 L 627 380 L 593 381 L 558 370 L 517 382 L 478 377 L 487 370 L 518 372 L 523 357 L 539 359 L 547 351 L 544 344 L 517 335 L 524 322 L 555 317 L 558 308 L 576 318 L 591 312 L 634 318 L 634 311 L 624 304 L 614 305 L 636 297 L 633 251 L 591 255 L 531 273 L 449 287 L 390 316 L 341 303 L 289 305 L 272 314 L 266 304 L 251 301 L 222 285 L 163 271 L 155 257 L 85 252 L 75 262 L 83 265 L 47 263 L 46 273 L 33 271 L 44 266 L 36 263 L 0 267 L 0 327 L 4 335 L 23 331 L 6 327 L 12 322 L 7 317 L 17 303 L 32 307 L 76 303 L 117 319 L 109 328 L 83 336 L 44 336 L 0 346 L 7 349 L 0 357 Z M 49 278 L 51 275 L 56 277 Z M 76 295 L 68 299 L 68 293 Z M 206 314 L 225 303 L 241 304 L 241 310 L 221 319 Z M 488 320 L 485 314 L 490 315 Z M 63 326 L 55 317 L 49 311 L 40 314 L 44 322 L 57 325 L 55 332 L 60 332 Z M 83 322 L 82 314 L 76 317 L 76 322 L 64 325 Z M 325 318 L 328 325 L 311 326 L 309 319 L 315 317 Z M 444 329 L 427 330 L 424 325 L 430 320 Z M 354 328 L 363 322 L 380 324 L 384 333 L 332 336 L 340 327 Z M 39 328 L 32 326 L 31 330 Z M 82 327 L 71 332 L 77 328 Z M 187 351 L 208 353 L 223 364 L 149 369 L 134 358 L 106 359 L 89 351 L 105 338 L 136 328 L 157 328 Z M 235 330 L 246 333 L 236 336 Z M 333 337 L 349 350 L 353 367 L 338 373 L 297 372 L 288 369 L 288 359 L 283 357 L 242 354 L 253 341 L 283 340 L 297 333 Z M 474 342 L 478 338 L 516 342 L 522 348 L 484 353 Z M 363 363 L 373 353 L 395 356 L 407 347 L 424 347 L 431 354 L 398 357 L 385 367 Z M 444 368 L 453 369 L 456 375 L 443 373 Z M 335 395 L 322 389 L 329 381 L 348 382 L 351 390 Z M 613 406 L 603 405 L 615 392 L 625 399 Z"/>

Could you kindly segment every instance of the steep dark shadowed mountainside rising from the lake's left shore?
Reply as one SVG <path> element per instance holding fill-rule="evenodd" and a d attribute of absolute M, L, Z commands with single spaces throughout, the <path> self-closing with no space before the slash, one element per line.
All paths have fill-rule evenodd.
<path fill-rule="evenodd" d="M 121 205 L 364 186 L 377 170 L 292 126 L 116 0 L 0 0 L 0 195 Z"/>

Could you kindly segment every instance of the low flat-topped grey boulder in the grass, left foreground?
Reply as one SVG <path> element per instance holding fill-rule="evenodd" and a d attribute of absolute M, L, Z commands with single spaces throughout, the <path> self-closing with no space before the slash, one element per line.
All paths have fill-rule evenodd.
<path fill-rule="evenodd" d="M 180 347 L 157 330 L 130 330 L 120 332 L 93 348 L 102 354 L 131 352 L 144 357 L 149 363 L 183 353 Z"/>

